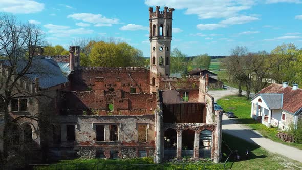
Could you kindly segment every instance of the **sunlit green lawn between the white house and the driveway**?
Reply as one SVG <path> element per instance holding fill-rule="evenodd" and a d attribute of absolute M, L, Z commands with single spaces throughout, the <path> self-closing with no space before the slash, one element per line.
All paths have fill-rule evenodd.
<path fill-rule="evenodd" d="M 226 100 L 228 99 L 228 100 Z M 251 101 L 246 100 L 246 96 L 238 97 L 238 96 L 226 96 L 217 101 L 217 104 L 221 105 L 221 107 L 227 112 L 232 111 L 238 117 L 236 120 L 238 123 L 246 124 L 250 126 L 252 129 L 257 130 L 263 136 L 268 137 L 269 139 L 283 143 L 289 146 L 293 146 L 302 150 L 302 144 L 298 143 L 287 143 L 283 142 L 275 135 L 279 132 L 276 128 L 267 128 L 265 125 L 258 123 L 254 119 L 250 118 L 251 113 Z"/>

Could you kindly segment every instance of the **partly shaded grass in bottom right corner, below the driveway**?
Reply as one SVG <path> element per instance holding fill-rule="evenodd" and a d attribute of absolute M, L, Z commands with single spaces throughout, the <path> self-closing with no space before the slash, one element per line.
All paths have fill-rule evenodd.
<path fill-rule="evenodd" d="M 294 161 L 283 156 L 269 153 L 258 145 L 249 143 L 243 139 L 223 133 L 222 140 L 225 141 L 232 150 L 238 150 L 241 156 L 240 161 L 233 164 L 226 164 L 227 169 L 301 169 L 302 163 Z M 245 151 L 248 148 L 249 158 L 245 160 Z M 222 148 L 223 152 L 226 147 Z M 227 152 L 227 151 L 225 151 Z M 233 156 L 230 161 L 234 161 Z"/>

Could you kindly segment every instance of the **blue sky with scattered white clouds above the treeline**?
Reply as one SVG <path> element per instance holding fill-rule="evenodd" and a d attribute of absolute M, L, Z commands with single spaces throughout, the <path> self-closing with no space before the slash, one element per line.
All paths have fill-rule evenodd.
<path fill-rule="evenodd" d="M 235 46 L 270 52 L 302 48 L 302 0 L 0 0 L 0 12 L 37 24 L 52 45 L 76 38 L 116 37 L 149 56 L 148 7 L 175 8 L 172 47 L 188 56 L 229 55 Z"/>

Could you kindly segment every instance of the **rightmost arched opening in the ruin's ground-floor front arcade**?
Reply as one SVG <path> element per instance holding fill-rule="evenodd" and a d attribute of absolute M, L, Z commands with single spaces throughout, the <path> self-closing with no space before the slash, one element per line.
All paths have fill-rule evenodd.
<path fill-rule="evenodd" d="M 212 150 L 212 131 L 204 130 L 199 135 L 199 157 L 210 158 Z"/>

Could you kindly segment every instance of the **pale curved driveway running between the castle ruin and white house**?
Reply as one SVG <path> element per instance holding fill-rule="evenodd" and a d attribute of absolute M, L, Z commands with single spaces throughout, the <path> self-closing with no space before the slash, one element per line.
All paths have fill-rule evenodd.
<path fill-rule="evenodd" d="M 215 101 L 224 96 L 237 94 L 235 88 L 222 91 L 209 91 L 208 93 L 215 98 Z M 265 138 L 257 131 L 254 131 L 245 125 L 237 124 L 236 119 L 230 119 L 225 115 L 223 115 L 222 120 L 222 131 L 244 139 L 248 142 L 255 143 L 272 153 L 277 153 L 290 159 L 302 162 L 302 150 Z"/>

